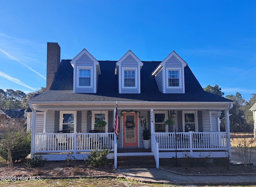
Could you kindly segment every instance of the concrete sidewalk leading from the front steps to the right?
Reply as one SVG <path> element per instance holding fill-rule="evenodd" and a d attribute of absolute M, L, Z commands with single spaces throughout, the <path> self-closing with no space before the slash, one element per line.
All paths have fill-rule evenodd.
<path fill-rule="evenodd" d="M 256 184 L 256 175 L 243 176 L 185 176 L 156 168 L 120 168 L 117 171 L 126 179 L 147 183 L 174 185 L 230 185 Z"/>

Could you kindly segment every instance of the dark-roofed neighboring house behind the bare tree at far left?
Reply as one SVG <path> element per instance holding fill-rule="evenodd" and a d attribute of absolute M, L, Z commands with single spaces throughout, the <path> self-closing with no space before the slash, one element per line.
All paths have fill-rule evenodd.
<path fill-rule="evenodd" d="M 17 124 L 26 126 L 25 109 L 0 109 L 0 114 L 5 114 L 7 118 L 16 120 Z"/>

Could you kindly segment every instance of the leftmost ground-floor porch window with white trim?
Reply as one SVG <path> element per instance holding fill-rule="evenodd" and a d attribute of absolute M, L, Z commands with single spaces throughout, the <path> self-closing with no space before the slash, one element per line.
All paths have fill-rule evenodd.
<path fill-rule="evenodd" d="M 76 132 L 76 111 L 60 112 L 60 130 Z"/>

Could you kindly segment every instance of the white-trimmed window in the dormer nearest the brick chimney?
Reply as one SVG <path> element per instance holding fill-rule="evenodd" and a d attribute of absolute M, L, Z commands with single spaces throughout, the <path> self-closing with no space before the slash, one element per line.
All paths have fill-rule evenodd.
<path fill-rule="evenodd" d="M 91 88 L 92 87 L 92 67 L 77 67 L 77 87 Z"/>

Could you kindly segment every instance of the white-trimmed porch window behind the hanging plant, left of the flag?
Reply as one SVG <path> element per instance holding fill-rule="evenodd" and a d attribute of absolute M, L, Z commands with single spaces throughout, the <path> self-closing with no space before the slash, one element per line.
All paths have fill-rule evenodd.
<path fill-rule="evenodd" d="M 96 122 L 104 120 L 107 122 L 106 126 L 96 126 Z M 96 111 L 92 112 L 92 130 L 99 130 L 100 132 L 108 132 L 108 112 L 107 111 Z"/>

